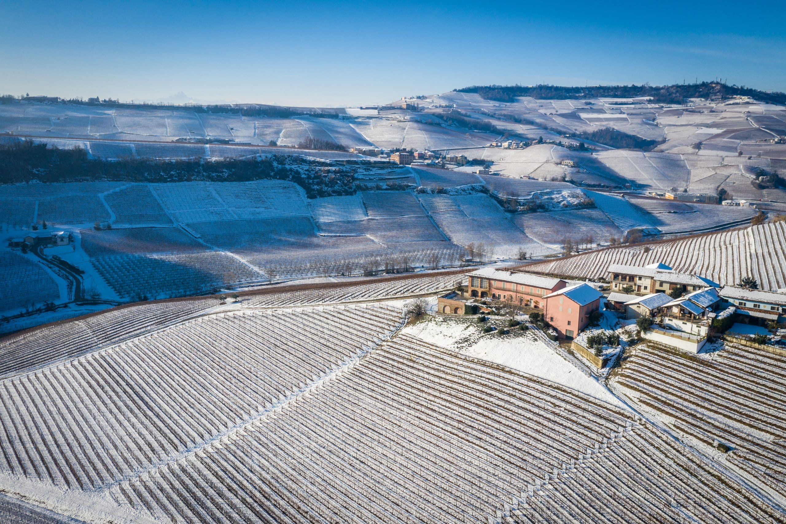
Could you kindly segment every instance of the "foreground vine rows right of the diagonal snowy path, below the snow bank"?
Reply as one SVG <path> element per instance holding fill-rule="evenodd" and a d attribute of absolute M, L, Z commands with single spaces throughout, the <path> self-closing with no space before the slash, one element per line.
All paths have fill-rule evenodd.
<path fill-rule="evenodd" d="M 479 522 L 520 500 L 517 511 L 536 504 L 539 520 L 589 522 L 597 510 L 581 490 L 556 495 L 563 504 L 534 501 L 584 473 L 604 478 L 605 513 L 618 519 L 779 518 L 624 411 L 417 338 L 386 342 L 307 389 L 111 493 L 186 522 Z"/>

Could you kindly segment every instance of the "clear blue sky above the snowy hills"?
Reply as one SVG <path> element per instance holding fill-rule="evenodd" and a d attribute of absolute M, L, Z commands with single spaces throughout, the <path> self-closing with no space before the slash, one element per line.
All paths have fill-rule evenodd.
<path fill-rule="evenodd" d="M 472 84 L 786 91 L 782 2 L 0 0 L 0 94 L 367 105 Z"/>

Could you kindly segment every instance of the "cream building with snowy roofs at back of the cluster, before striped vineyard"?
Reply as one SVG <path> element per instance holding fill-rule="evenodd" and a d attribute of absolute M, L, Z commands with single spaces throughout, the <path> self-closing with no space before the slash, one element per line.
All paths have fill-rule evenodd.
<path fill-rule="evenodd" d="M 674 290 L 698 291 L 707 287 L 720 287 L 717 282 L 699 275 L 678 273 L 666 264 L 648 264 L 646 266 L 626 266 L 611 264 L 606 270 L 608 281 L 612 283 L 612 291 L 625 292 L 626 287 L 632 288 L 630 293 L 671 293 Z"/>

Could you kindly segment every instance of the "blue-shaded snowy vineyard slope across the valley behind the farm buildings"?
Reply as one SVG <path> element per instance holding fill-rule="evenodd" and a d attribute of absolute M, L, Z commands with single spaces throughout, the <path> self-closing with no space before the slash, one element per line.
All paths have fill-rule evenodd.
<path fill-rule="evenodd" d="M 439 170 L 398 171 L 433 176 Z M 447 186 L 455 194 L 366 190 L 314 199 L 278 180 L 6 185 L 0 186 L 6 204 L 0 220 L 9 239 L 24 238 L 30 224 L 43 221 L 71 232 L 72 246 L 53 254 L 86 271 L 90 288 L 103 297 L 128 301 L 279 279 L 456 266 L 466 256 L 547 256 L 560 253 L 567 239 L 591 246 L 622 238 L 633 227 L 704 231 L 755 214 L 751 208 L 626 199 L 560 182 L 500 180 L 462 174 Z M 512 194 L 544 210 L 509 212 L 500 202 Z M 592 202 L 595 208 L 584 208 Z M 65 283 L 58 289 L 57 275 L 31 253 L 3 260 L 9 271 L 2 311 L 24 306 L 12 290 L 31 281 L 39 282 L 28 286 L 32 304 L 72 294 Z"/>

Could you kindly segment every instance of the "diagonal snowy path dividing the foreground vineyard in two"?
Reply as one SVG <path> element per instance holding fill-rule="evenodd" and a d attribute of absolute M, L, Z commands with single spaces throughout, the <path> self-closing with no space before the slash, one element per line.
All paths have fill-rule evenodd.
<path fill-rule="evenodd" d="M 298 400 L 299 398 L 303 397 L 304 395 L 310 394 L 312 391 L 314 391 L 314 389 L 316 389 L 316 388 L 322 386 L 323 384 L 325 384 L 325 382 L 328 382 L 329 380 L 331 380 L 332 378 L 335 378 L 336 376 L 342 375 L 344 371 L 351 370 L 351 368 L 354 367 L 354 365 L 357 364 L 361 360 L 361 358 L 363 356 L 369 354 L 369 352 L 372 352 L 373 349 L 376 349 L 377 347 L 379 347 L 385 341 L 390 340 L 395 335 L 395 333 L 404 326 L 405 322 L 406 322 L 406 319 L 404 319 L 402 317 L 401 321 L 394 328 L 394 330 L 388 332 L 386 335 L 384 335 L 384 336 L 380 337 L 379 339 L 377 339 L 377 341 L 375 343 L 373 343 L 372 345 L 368 345 L 368 346 L 362 345 L 361 349 L 358 350 L 358 352 L 356 352 L 354 354 L 354 356 L 351 356 L 349 359 L 345 360 L 343 363 L 340 363 L 340 364 L 334 366 L 329 373 L 326 373 L 325 375 L 322 375 L 321 377 L 319 377 L 319 378 L 317 378 L 317 379 L 315 379 L 315 380 L 313 380 L 311 382 L 308 382 L 306 385 L 304 385 L 300 389 L 293 390 L 292 392 L 290 392 L 288 394 L 287 397 L 281 397 L 280 400 L 278 400 L 274 404 L 271 404 L 270 406 L 268 406 L 267 408 L 263 409 L 262 411 L 259 411 L 258 413 L 255 413 L 254 415 L 252 415 L 252 416 L 248 417 L 247 419 L 245 419 L 245 420 L 235 424 L 234 426 L 231 426 L 231 427 L 227 428 L 226 430 L 223 430 L 219 434 L 213 435 L 212 437 L 208 438 L 208 440 L 200 442 L 199 445 L 193 446 L 191 448 L 184 449 L 182 452 L 178 452 L 178 453 L 176 453 L 176 454 L 174 454 L 172 456 L 167 457 L 166 459 L 158 461 L 157 463 L 152 463 L 152 464 L 150 464 L 147 467 L 144 467 L 144 468 L 142 468 L 140 470 L 136 470 L 136 471 L 134 471 L 134 472 L 132 472 L 130 474 L 124 475 L 122 478 L 117 479 L 115 482 L 111 482 L 109 484 L 102 485 L 99 488 L 90 489 L 88 491 L 99 491 L 100 492 L 100 491 L 104 491 L 106 489 L 112 489 L 113 487 L 115 487 L 117 485 L 120 485 L 123 482 L 129 482 L 130 480 L 133 480 L 134 478 L 140 478 L 144 474 L 154 473 L 156 470 L 159 470 L 160 468 L 167 467 L 171 463 L 175 463 L 175 462 L 178 462 L 178 461 L 180 461 L 182 459 L 186 459 L 189 456 L 196 455 L 196 453 L 198 453 L 198 452 L 210 451 L 209 448 L 211 448 L 212 445 L 215 445 L 215 444 L 217 444 L 217 443 L 219 443 L 221 441 L 224 441 L 224 442 L 229 441 L 231 439 L 231 437 L 234 434 L 237 434 L 239 431 L 244 430 L 246 427 L 251 426 L 254 423 L 257 423 L 260 420 L 266 419 L 266 417 L 268 415 L 270 415 L 271 413 L 274 413 L 274 411 L 281 411 L 283 408 L 288 406 L 288 404 L 292 404 L 292 402 L 294 402 L 295 400 Z"/>

